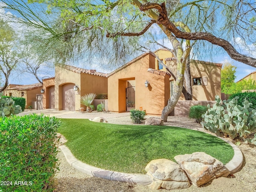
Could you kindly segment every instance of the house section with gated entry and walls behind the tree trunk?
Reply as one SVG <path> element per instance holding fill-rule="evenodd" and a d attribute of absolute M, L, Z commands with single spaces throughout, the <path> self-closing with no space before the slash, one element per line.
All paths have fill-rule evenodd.
<path fill-rule="evenodd" d="M 170 70 L 176 74 L 174 55 L 165 49 L 155 52 L 164 64 L 170 62 Z M 214 100 L 220 95 L 220 70 L 222 64 L 192 60 L 190 63 L 193 100 Z M 132 108 L 145 110 L 147 114 L 162 113 L 174 90 L 174 80 L 166 72 L 152 52 L 144 53 L 108 77 L 108 110 L 124 112 Z M 145 86 L 146 80 L 149 82 Z M 132 91 L 131 91 L 132 89 Z M 184 100 L 182 94 L 180 100 Z"/>

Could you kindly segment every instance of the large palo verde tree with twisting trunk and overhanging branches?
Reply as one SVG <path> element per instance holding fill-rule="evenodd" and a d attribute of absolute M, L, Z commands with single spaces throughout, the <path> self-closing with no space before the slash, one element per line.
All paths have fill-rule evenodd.
<path fill-rule="evenodd" d="M 256 42 L 255 23 L 251 19 L 256 10 L 254 1 L 28 1 L 30 3 L 45 3 L 47 5 L 46 12 L 51 16 L 57 16 L 61 25 L 42 22 L 42 17 L 36 16 L 36 10 L 31 10 L 28 4 L 22 4 L 22 1 L 3 0 L 3 2 L 9 9 L 20 14 L 22 21 L 26 20 L 30 26 L 46 30 L 55 39 L 61 39 L 62 42 L 72 45 L 70 46 L 71 50 L 75 52 L 85 51 L 86 48 L 102 50 L 106 44 L 109 49 L 109 44 L 114 44 L 115 46 L 112 46 L 114 56 L 120 58 L 130 54 L 123 49 L 124 44 L 133 39 L 137 40 L 137 43 L 133 41 L 133 44 L 138 47 L 138 42 L 144 43 L 143 38 L 138 37 L 144 36 L 153 25 L 157 25 L 162 34 L 171 42 L 177 61 L 177 73 L 174 74 L 176 78 L 174 94 L 162 111 L 162 118 L 165 122 L 182 93 L 184 74 L 186 68 L 189 68 L 187 61 L 191 52 L 190 40 L 194 40 L 193 54 L 196 56 L 202 52 L 207 53 L 206 50 L 210 50 L 214 45 L 211 53 L 214 53 L 214 50 L 218 52 L 224 50 L 234 60 L 256 67 L 255 58 L 241 54 L 234 48 L 238 37 L 240 46 L 243 47 L 251 42 Z M 31 18 L 36 22 L 31 22 Z M 104 36 L 110 40 L 106 40 Z M 78 39 L 80 40 L 77 41 Z M 168 68 L 168 66 L 166 67 Z"/>

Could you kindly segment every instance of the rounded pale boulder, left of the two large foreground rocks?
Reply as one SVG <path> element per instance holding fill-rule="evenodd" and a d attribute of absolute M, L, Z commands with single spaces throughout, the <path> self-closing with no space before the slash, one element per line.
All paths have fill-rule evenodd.
<path fill-rule="evenodd" d="M 145 170 L 152 179 L 150 188 L 156 190 L 184 189 L 190 186 L 188 177 L 178 164 L 168 159 L 155 159 L 149 162 Z"/>

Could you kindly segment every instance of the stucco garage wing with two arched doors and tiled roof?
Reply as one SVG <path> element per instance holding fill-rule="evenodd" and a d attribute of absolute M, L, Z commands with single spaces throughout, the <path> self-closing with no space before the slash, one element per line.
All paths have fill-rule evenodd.
<path fill-rule="evenodd" d="M 77 87 L 77 91 L 74 90 Z M 55 77 L 43 80 L 43 108 L 56 110 L 79 110 L 81 96 L 89 93 L 106 94 L 106 74 L 75 66 L 56 66 Z"/>

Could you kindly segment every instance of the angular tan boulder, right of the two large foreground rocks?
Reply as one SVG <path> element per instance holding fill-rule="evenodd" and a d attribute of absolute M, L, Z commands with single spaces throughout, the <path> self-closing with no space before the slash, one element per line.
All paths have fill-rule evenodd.
<path fill-rule="evenodd" d="M 194 186 L 200 186 L 214 178 L 227 177 L 230 174 L 222 162 L 204 152 L 177 155 L 174 159 L 186 172 Z"/>

